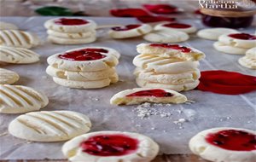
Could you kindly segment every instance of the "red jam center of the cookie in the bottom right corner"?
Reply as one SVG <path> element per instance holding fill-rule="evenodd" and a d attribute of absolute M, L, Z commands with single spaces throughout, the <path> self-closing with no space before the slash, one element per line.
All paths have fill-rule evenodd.
<path fill-rule="evenodd" d="M 207 142 L 234 151 L 256 150 L 256 136 L 242 130 L 222 130 L 206 136 Z"/>

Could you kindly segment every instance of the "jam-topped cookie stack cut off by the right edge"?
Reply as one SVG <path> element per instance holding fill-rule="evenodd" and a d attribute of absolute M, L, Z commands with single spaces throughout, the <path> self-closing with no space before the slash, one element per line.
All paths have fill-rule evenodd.
<path fill-rule="evenodd" d="M 227 54 L 245 55 L 247 49 L 256 47 L 256 36 L 248 33 L 224 34 L 213 43 L 213 47 Z"/>

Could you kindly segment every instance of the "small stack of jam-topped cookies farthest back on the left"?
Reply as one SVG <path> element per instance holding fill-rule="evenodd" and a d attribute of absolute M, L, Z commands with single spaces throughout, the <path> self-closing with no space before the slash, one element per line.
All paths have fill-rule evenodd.
<path fill-rule="evenodd" d="M 44 23 L 48 39 L 58 44 L 83 44 L 96 41 L 96 23 L 78 18 L 58 18 Z"/>

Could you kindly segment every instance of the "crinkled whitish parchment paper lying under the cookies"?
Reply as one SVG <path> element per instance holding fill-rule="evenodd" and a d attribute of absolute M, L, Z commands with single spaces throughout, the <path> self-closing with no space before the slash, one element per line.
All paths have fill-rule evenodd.
<path fill-rule="evenodd" d="M 51 17 L 3 17 L 1 20 L 13 22 L 22 30 L 36 32 L 42 45 L 32 50 L 41 55 L 38 63 L 30 65 L 7 65 L 4 68 L 20 74 L 16 84 L 30 86 L 43 91 L 49 97 L 49 105 L 42 110 L 72 110 L 88 115 L 92 130 L 125 130 L 142 133 L 152 137 L 160 144 L 160 153 L 190 153 L 189 138 L 197 132 L 212 127 L 232 126 L 256 130 L 256 93 L 245 95 L 217 95 L 210 92 L 190 90 L 183 92 L 194 103 L 179 105 L 148 105 L 116 107 L 109 104 L 112 95 L 120 90 L 137 87 L 132 71 L 132 59 L 137 55 L 136 45 L 144 43 L 142 38 L 113 40 L 106 31 L 98 31 L 96 43 L 86 45 L 55 45 L 46 42 L 44 21 Z M 90 18 L 99 25 L 137 23 L 132 18 Z M 200 20 L 183 20 L 203 28 Z M 255 28 L 245 32 L 253 33 Z M 221 69 L 256 75 L 255 71 L 241 67 L 239 55 L 226 55 L 212 48 L 212 41 L 191 36 L 182 43 L 200 49 L 207 58 L 201 61 L 201 70 Z M 120 82 L 99 90 L 75 90 L 55 84 L 47 76 L 45 68 L 49 55 L 67 49 L 83 46 L 106 46 L 117 49 L 121 58 L 117 71 Z M 63 159 L 63 142 L 26 142 L 7 133 L 8 124 L 18 115 L 0 114 L 0 159 Z"/>

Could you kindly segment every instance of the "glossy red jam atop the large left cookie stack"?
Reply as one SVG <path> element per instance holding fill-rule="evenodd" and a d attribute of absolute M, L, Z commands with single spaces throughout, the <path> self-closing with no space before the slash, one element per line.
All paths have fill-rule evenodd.
<path fill-rule="evenodd" d="M 59 55 L 59 57 L 61 59 L 65 59 L 69 61 L 95 61 L 95 60 L 100 60 L 106 57 L 106 55 L 102 55 L 101 53 L 108 53 L 108 50 L 80 49 L 80 50 L 74 50 L 74 51 Z"/>

